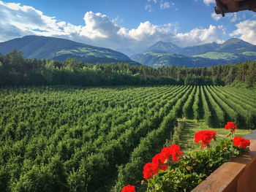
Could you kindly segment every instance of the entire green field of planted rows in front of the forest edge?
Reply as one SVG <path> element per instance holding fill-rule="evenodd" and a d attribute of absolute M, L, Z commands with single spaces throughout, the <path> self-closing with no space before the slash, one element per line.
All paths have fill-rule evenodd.
<path fill-rule="evenodd" d="M 210 128 L 236 121 L 247 134 L 256 128 L 255 95 L 212 85 L 1 89 L 0 191 L 138 185 L 177 118 Z"/>

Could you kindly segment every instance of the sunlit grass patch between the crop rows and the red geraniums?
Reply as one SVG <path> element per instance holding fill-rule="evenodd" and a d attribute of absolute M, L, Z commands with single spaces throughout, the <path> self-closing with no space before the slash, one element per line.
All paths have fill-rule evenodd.
<path fill-rule="evenodd" d="M 189 151 L 195 151 L 200 150 L 200 144 L 196 144 L 194 140 L 194 135 L 197 131 L 202 130 L 214 130 L 217 131 L 217 142 L 220 142 L 224 139 L 227 139 L 225 136 L 230 132 L 230 130 L 223 128 L 211 128 L 206 125 L 204 120 L 198 120 L 197 123 L 195 123 L 195 120 L 185 120 L 187 123 L 187 127 L 182 130 L 181 134 L 181 150 L 182 153 L 186 154 Z M 236 136 L 238 137 L 244 137 L 247 134 L 252 132 L 251 129 L 237 129 L 236 130 Z M 217 142 L 211 141 L 211 146 L 214 146 Z"/>

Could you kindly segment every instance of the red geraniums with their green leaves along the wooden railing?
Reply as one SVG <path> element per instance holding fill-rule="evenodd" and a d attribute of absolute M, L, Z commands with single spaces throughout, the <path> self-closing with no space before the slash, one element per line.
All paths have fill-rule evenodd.
<path fill-rule="evenodd" d="M 219 144 L 213 148 L 210 148 L 210 142 L 212 139 L 216 141 L 217 131 L 198 131 L 195 134 L 195 143 L 200 142 L 202 147 L 209 147 L 208 150 L 204 150 L 202 153 L 200 153 L 200 151 L 195 154 L 191 153 L 181 160 L 180 157 L 182 157 L 183 154 L 178 145 L 174 144 L 171 147 L 164 147 L 161 153 L 158 153 L 152 158 L 151 163 L 143 167 L 143 177 L 146 180 L 152 178 L 148 180 L 148 191 L 157 191 L 159 186 L 161 186 L 161 189 L 168 188 L 173 189 L 173 191 L 181 191 L 181 188 L 184 187 L 183 183 L 191 182 L 191 177 L 187 177 L 187 174 L 195 174 L 196 177 L 195 180 L 193 179 L 193 183 L 200 183 L 207 174 L 211 174 L 213 167 L 219 166 L 219 163 L 228 161 L 230 156 L 238 155 L 242 151 L 249 151 L 248 146 L 250 142 L 248 139 L 234 137 L 235 130 L 238 129 L 235 126 L 235 122 L 227 122 L 225 129 L 231 130 L 227 135 L 230 136 L 230 139 L 219 142 Z M 218 161 L 208 161 L 208 159 L 218 158 L 218 156 Z M 177 161 L 179 161 L 179 163 L 175 164 Z M 172 169 L 167 169 L 168 166 L 172 166 Z M 159 170 L 164 172 L 159 174 L 159 177 L 154 177 L 155 174 L 159 173 Z M 175 180 L 175 182 L 168 183 L 170 180 Z M 195 187 L 194 184 L 192 184 L 191 188 L 186 189 L 191 190 Z M 135 186 L 127 185 L 123 188 L 122 192 L 135 192 Z"/>

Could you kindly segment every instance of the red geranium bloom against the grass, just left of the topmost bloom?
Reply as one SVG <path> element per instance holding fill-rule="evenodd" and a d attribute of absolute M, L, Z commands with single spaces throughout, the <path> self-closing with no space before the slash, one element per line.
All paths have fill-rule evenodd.
<path fill-rule="evenodd" d="M 214 139 L 214 141 L 216 141 L 216 134 L 217 131 L 198 131 L 195 134 L 195 143 L 201 142 L 202 147 L 209 147 L 211 139 Z"/>

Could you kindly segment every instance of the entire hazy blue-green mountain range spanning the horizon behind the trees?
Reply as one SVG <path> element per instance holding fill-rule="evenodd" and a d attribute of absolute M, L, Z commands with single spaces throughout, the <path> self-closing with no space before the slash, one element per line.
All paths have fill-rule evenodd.
<path fill-rule="evenodd" d="M 172 42 L 159 41 L 148 47 L 145 52 L 132 55 L 130 58 L 116 50 L 56 37 L 26 36 L 0 42 L 1 54 L 10 53 L 12 50 L 22 50 L 23 56 L 31 59 L 64 61 L 67 58 L 77 58 L 89 64 L 122 62 L 155 68 L 170 65 L 202 67 L 256 60 L 256 45 L 236 38 L 228 39 L 222 44 L 212 42 L 189 47 L 178 47 Z M 127 47 L 120 49 L 122 50 L 132 53 Z"/>

